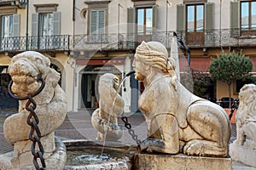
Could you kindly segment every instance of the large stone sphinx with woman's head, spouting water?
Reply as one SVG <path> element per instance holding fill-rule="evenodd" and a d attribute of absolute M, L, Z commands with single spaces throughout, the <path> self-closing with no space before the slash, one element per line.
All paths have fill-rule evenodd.
<path fill-rule="evenodd" d="M 148 139 L 139 150 L 189 156 L 228 156 L 230 120 L 222 107 L 177 81 L 175 62 L 160 42 L 142 42 L 132 63 L 144 91 L 138 101 Z"/>

